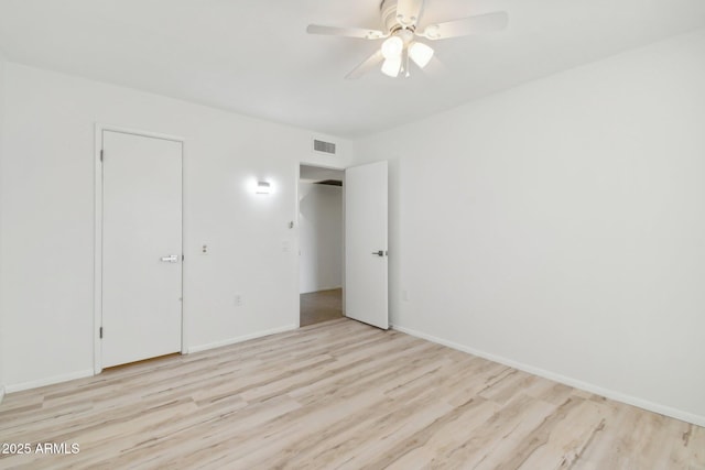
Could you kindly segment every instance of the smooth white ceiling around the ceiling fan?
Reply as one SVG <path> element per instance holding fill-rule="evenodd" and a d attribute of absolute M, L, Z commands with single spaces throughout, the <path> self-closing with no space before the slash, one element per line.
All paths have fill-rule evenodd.
<path fill-rule="evenodd" d="M 704 0 L 426 0 L 421 24 L 505 10 L 502 33 L 434 42 L 443 66 L 345 80 L 379 0 L 0 0 L 13 62 L 356 138 L 705 26 Z"/>

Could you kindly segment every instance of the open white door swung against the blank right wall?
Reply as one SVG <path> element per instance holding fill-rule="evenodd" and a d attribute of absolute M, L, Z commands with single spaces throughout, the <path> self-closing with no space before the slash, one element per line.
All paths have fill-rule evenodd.
<path fill-rule="evenodd" d="M 346 316 L 389 328 L 387 162 L 345 171 Z"/>

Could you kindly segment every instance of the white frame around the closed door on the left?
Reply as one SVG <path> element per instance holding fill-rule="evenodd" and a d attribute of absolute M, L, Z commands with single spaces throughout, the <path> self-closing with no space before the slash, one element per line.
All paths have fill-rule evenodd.
<path fill-rule="evenodd" d="M 99 374 L 102 372 L 102 347 L 100 339 L 100 327 L 102 326 L 102 162 L 100 160 L 100 154 L 102 152 L 102 132 L 118 132 L 123 134 L 139 135 L 144 138 L 152 139 L 162 139 L 169 141 L 181 142 L 181 171 L 182 171 L 182 218 L 181 218 L 181 232 L 182 232 L 182 253 L 184 252 L 184 155 L 185 151 L 185 140 L 177 135 L 169 135 L 158 132 L 143 131 L 140 129 L 130 129 L 123 128 L 119 125 L 96 123 L 95 125 L 95 150 L 94 150 L 94 287 L 93 287 L 93 297 L 94 297 L 94 320 L 93 320 L 93 358 L 94 358 L 94 374 Z M 181 352 L 185 354 L 186 350 L 186 329 L 185 326 L 185 309 L 184 309 L 184 263 L 181 265 L 181 276 L 182 276 L 182 304 L 181 304 Z"/>

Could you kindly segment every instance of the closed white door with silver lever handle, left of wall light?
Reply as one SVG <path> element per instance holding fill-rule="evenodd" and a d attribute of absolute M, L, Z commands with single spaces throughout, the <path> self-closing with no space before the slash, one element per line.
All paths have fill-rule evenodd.
<path fill-rule="evenodd" d="M 181 351 L 182 142 L 102 131 L 102 367 Z"/>

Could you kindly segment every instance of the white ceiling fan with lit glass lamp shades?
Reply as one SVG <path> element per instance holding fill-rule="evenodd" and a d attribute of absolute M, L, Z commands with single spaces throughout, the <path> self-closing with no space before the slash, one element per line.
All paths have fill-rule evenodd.
<path fill-rule="evenodd" d="M 345 78 L 359 78 L 382 63 L 382 73 L 390 77 L 400 74 L 408 77 L 409 59 L 420 68 L 431 62 L 434 51 L 427 44 L 417 41 L 424 37 L 430 41 L 466 36 L 501 31 L 507 28 L 508 15 L 503 11 L 478 14 L 444 23 L 427 24 L 419 29 L 424 0 L 382 0 L 380 13 L 384 31 L 364 28 L 336 28 L 310 24 L 310 34 L 357 37 L 362 40 L 384 40 L 381 47 L 365 59 Z"/>

